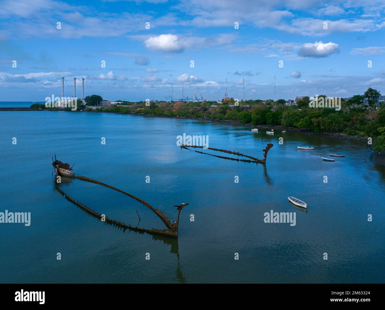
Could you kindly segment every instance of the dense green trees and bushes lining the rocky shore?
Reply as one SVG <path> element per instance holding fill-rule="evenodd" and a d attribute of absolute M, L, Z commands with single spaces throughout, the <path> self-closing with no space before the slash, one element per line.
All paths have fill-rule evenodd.
<path fill-rule="evenodd" d="M 311 108 L 309 97 L 297 100 L 296 105 L 285 105 L 285 100 L 248 100 L 234 106 L 234 102 L 127 102 L 112 107 L 87 108 L 88 111 L 137 113 L 163 115 L 170 117 L 198 117 L 213 120 L 231 120 L 252 125 L 282 125 L 295 127 L 313 132 L 345 133 L 361 137 L 377 138 L 373 148 L 385 149 L 385 107 L 380 105 L 375 109 L 375 98 L 380 93 L 369 88 L 363 95 L 355 95 L 341 103 L 341 110 L 335 108 Z M 320 97 L 326 97 L 320 95 Z M 372 107 L 359 107 L 364 98 Z M 102 100 L 97 95 L 85 97 L 87 105 L 95 105 Z M 147 103 L 148 104 L 148 103 Z M 216 107 L 212 107 L 217 105 Z M 230 106 L 231 105 L 231 106 Z M 35 106 L 35 105 L 32 105 Z M 31 106 L 31 107 L 32 107 Z M 358 106 L 358 107 L 357 107 Z"/>

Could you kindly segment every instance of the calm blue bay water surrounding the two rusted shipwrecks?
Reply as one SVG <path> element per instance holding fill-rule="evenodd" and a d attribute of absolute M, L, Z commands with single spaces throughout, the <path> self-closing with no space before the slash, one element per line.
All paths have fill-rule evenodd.
<path fill-rule="evenodd" d="M 274 147 L 266 165 L 240 163 L 182 150 L 176 137 L 183 133 L 259 158 L 266 143 Z M 330 152 L 346 157 L 322 161 Z M 189 202 L 179 238 L 123 232 L 65 200 L 53 183 L 54 154 L 75 164 L 76 174 L 132 193 L 174 220 L 173 205 Z M 385 167 L 371 154 L 362 142 L 196 120 L 0 112 L 0 212 L 31 212 L 29 227 L 0 224 L 0 282 L 383 282 Z M 72 179 L 60 187 L 110 218 L 136 226 L 137 210 L 139 227 L 165 228 L 141 203 L 109 188 Z M 308 203 L 308 212 L 288 196 Z M 264 223 L 270 210 L 295 212 L 296 225 Z"/>

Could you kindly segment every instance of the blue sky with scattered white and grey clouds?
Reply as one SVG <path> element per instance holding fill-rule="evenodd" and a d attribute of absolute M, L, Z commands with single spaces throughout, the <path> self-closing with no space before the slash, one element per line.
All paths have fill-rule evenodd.
<path fill-rule="evenodd" d="M 75 77 L 78 97 L 84 78 L 108 100 L 170 100 L 171 84 L 175 100 L 182 82 L 221 99 L 226 78 L 238 99 L 243 79 L 246 99 L 385 94 L 384 13 L 378 0 L 0 0 L 0 101 L 60 96 L 61 77 L 65 96 Z"/>

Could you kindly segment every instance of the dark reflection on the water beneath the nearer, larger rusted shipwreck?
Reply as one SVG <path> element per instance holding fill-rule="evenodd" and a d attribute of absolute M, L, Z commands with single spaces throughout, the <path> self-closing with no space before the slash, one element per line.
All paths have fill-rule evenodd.
<path fill-rule="evenodd" d="M 72 178 L 64 177 L 61 179 L 61 183 L 70 183 L 71 181 L 72 181 Z M 55 185 L 54 185 L 54 187 L 55 187 Z M 71 201 L 69 200 L 69 202 L 71 202 Z M 73 205 L 75 205 L 79 210 L 81 210 L 82 212 L 87 214 L 88 216 L 93 217 L 98 222 L 100 222 L 100 218 L 97 217 L 96 215 L 88 212 L 87 210 L 85 210 L 83 208 L 80 208 L 77 204 L 75 204 L 73 202 L 71 202 L 71 203 Z M 140 220 L 139 220 L 139 222 L 140 222 Z M 138 225 L 139 225 L 139 222 L 138 222 Z M 171 245 L 170 253 L 176 254 L 176 257 L 177 257 L 176 275 L 174 277 L 174 280 L 179 282 L 179 283 L 187 283 L 186 278 L 184 277 L 183 272 L 182 272 L 182 265 L 180 263 L 178 238 L 168 237 L 168 236 L 164 236 L 164 235 L 158 235 L 156 233 L 150 233 L 150 232 L 141 232 L 141 231 L 137 231 L 137 230 L 130 229 L 130 228 L 120 227 L 118 225 L 115 225 L 114 223 L 109 223 L 109 222 L 102 222 L 102 223 L 104 223 L 104 225 L 113 226 L 116 229 L 121 230 L 123 233 L 125 233 L 126 230 L 128 230 L 128 233 L 134 232 L 134 233 L 138 233 L 141 235 L 148 234 L 148 235 L 151 235 L 152 240 L 154 240 L 154 241 L 159 240 L 159 241 L 163 241 L 163 243 L 166 245 Z"/>

